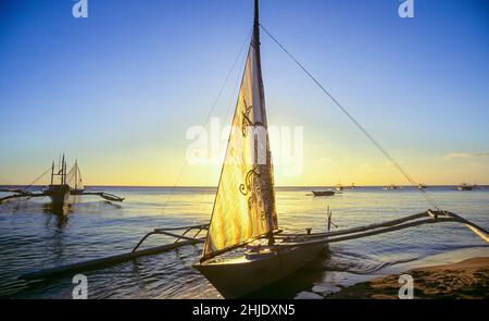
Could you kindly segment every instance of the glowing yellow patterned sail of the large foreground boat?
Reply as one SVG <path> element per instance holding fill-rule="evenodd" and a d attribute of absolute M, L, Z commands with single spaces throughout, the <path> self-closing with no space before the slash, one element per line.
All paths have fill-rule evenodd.
<path fill-rule="evenodd" d="M 255 30 L 247 57 L 203 259 L 277 229 Z"/>

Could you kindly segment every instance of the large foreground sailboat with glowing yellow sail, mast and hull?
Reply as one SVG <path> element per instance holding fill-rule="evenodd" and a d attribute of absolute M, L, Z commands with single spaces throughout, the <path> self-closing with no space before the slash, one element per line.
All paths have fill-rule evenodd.
<path fill-rule="evenodd" d="M 233 131 L 198 269 L 226 298 L 277 282 L 314 259 L 326 238 L 277 235 L 260 57 L 259 1 Z M 310 230 L 309 230 L 310 231 Z"/>

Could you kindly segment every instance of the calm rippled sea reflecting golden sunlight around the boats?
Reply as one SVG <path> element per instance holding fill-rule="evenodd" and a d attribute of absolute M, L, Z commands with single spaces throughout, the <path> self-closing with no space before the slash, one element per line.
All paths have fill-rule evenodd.
<path fill-rule="evenodd" d="M 89 189 L 97 189 L 91 187 Z M 18 281 L 23 273 L 60 264 L 129 251 L 155 227 L 208 223 L 214 188 L 104 187 L 125 197 L 110 203 L 84 197 L 65 219 L 45 211 L 46 200 L 0 205 L 0 297 L 71 298 L 72 275 Z M 489 229 L 489 189 L 457 192 L 453 187 L 427 189 L 443 208 Z M 334 197 L 312 197 L 310 187 L 278 187 L 276 203 L 280 229 L 313 232 L 326 229 L 326 208 L 340 229 L 418 213 L 429 206 L 414 188 L 384 190 L 363 187 Z M 166 207 L 165 203 L 167 202 Z M 171 243 L 152 236 L 146 246 Z M 103 270 L 84 272 L 89 298 L 220 298 L 195 270 L 201 245 L 142 257 Z M 263 292 L 264 297 L 313 298 L 341 286 L 402 271 L 424 262 L 456 260 L 489 246 L 463 225 L 424 225 L 368 238 L 331 244 L 329 251 L 284 282 Z M 277 291 L 279 289 L 279 291 Z"/>

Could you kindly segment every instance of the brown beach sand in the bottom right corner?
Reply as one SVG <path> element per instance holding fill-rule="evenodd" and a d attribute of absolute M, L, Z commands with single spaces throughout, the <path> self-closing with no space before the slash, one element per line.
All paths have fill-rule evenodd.
<path fill-rule="evenodd" d="M 489 299 L 489 257 L 457 263 L 416 268 L 405 273 L 414 280 L 414 298 Z M 326 299 L 398 299 L 400 274 L 344 287 Z"/>

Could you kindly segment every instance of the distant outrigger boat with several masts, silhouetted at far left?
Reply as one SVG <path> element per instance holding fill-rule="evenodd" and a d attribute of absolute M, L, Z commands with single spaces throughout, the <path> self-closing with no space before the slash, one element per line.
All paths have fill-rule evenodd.
<path fill-rule="evenodd" d="M 40 192 L 30 190 L 41 177 L 48 172 L 51 172 L 50 184 Z M 64 155 L 60 160 L 58 166 L 52 162 L 51 168 L 34 181 L 25 188 L 0 188 L 0 192 L 10 194 L 0 198 L 0 203 L 11 199 L 29 199 L 35 197 L 49 197 L 51 199 L 51 209 L 55 213 L 63 213 L 63 209 L 70 207 L 73 202 L 73 196 L 88 196 L 96 195 L 109 201 L 123 201 L 124 198 L 109 194 L 105 192 L 85 190 L 82 172 L 78 168 L 78 162 L 70 171 L 67 171 L 66 160 Z"/>

